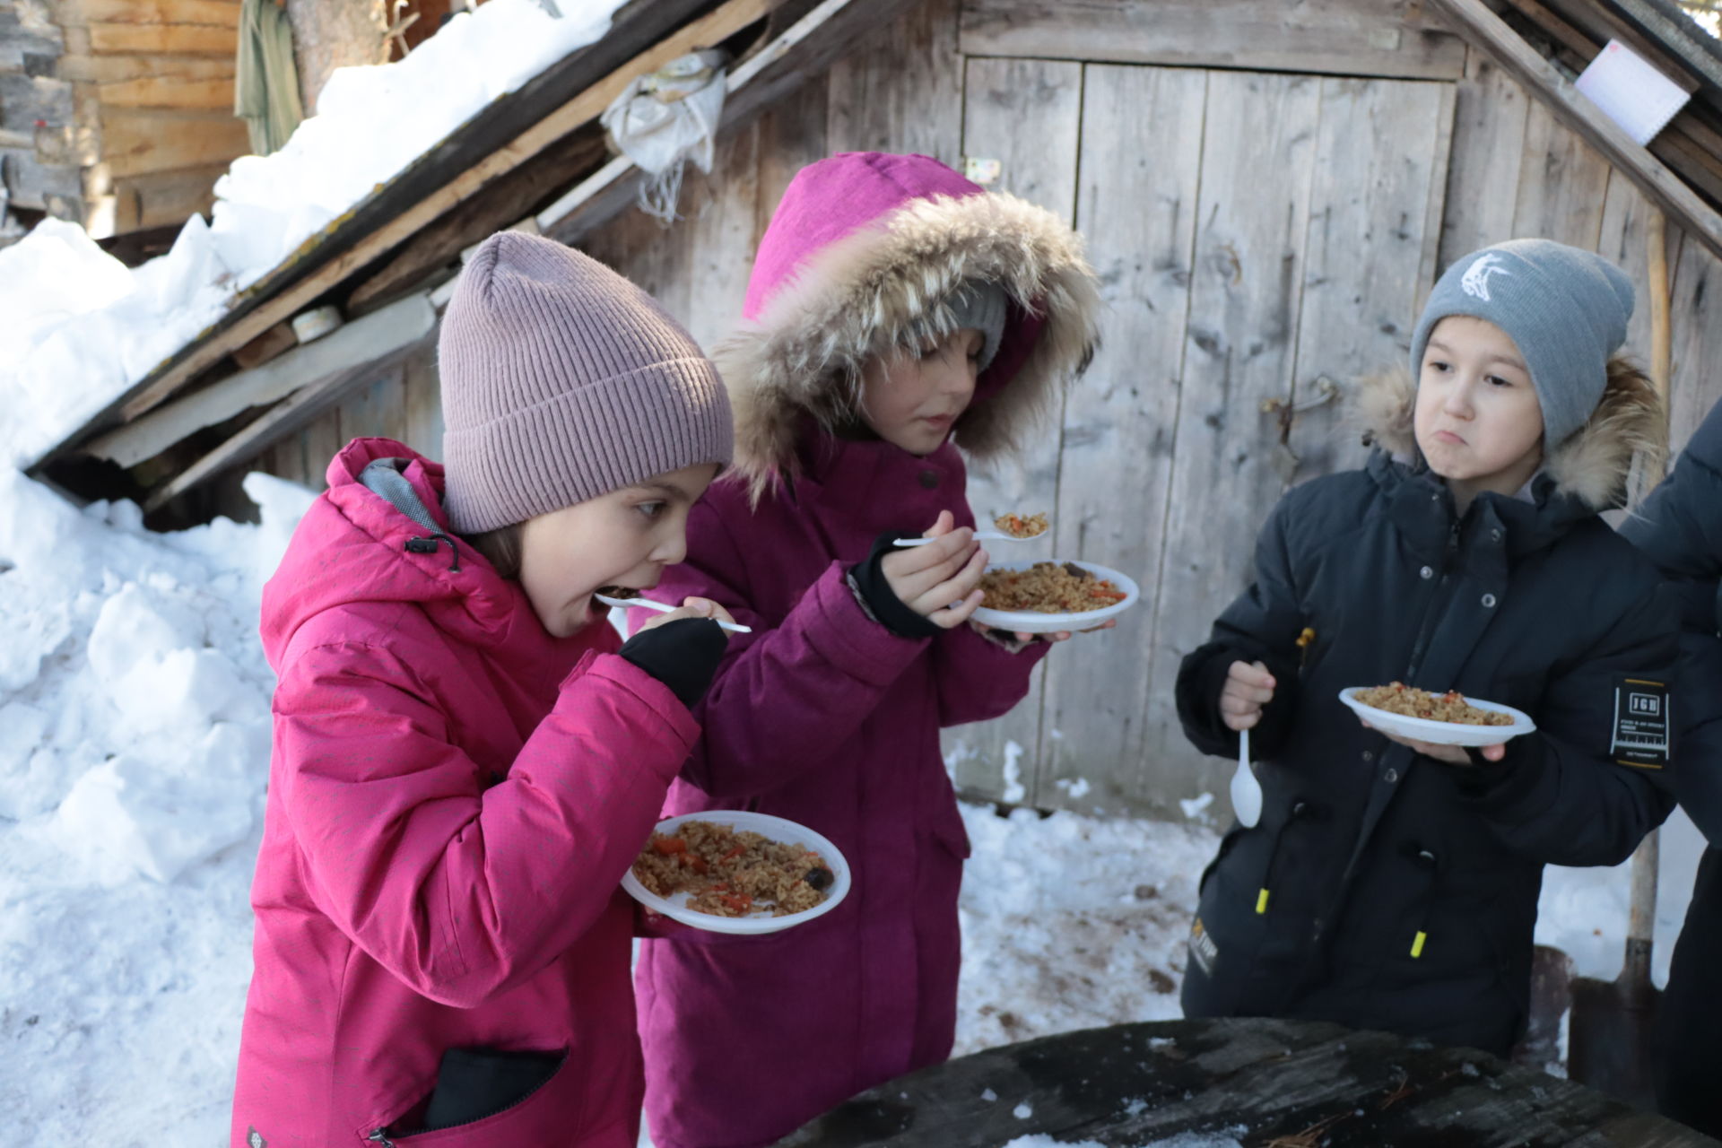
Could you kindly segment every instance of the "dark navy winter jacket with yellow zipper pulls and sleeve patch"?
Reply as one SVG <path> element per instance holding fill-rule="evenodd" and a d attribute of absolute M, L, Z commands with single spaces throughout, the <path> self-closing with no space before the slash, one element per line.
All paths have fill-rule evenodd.
<path fill-rule="evenodd" d="M 1402 387 L 1390 410 L 1409 403 Z M 1512 1046 L 1543 866 L 1617 864 L 1672 807 L 1667 738 L 1619 733 L 1658 740 L 1643 711 L 1665 709 L 1677 611 L 1596 513 L 1624 489 L 1631 430 L 1653 417 L 1641 394 L 1610 394 L 1531 484 L 1534 501 L 1484 494 L 1464 518 L 1436 475 L 1379 449 L 1279 503 L 1255 583 L 1178 678 L 1186 735 L 1230 756 L 1230 664 L 1261 659 L 1279 682 L 1252 733 L 1261 823 L 1231 828 L 1202 878 L 1186 1015 Z M 1403 410 L 1395 425 L 1409 427 Z M 1378 442 L 1414 456 L 1403 437 Z M 1338 701 L 1395 680 L 1505 702 L 1538 731 L 1500 764 L 1415 756 Z M 1632 695 L 1639 721 L 1624 728 Z"/>

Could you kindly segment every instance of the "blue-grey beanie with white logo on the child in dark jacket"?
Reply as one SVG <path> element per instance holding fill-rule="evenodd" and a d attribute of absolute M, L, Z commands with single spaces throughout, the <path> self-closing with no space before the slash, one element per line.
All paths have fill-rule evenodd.
<path fill-rule="evenodd" d="M 1555 449 L 1589 422 L 1608 386 L 1608 356 L 1626 343 L 1632 281 L 1600 255 L 1553 239 L 1514 239 L 1472 251 L 1434 284 L 1410 337 L 1410 375 L 1429 332 L 1448 315 L 1495 324 L 1517 344 Z"/>

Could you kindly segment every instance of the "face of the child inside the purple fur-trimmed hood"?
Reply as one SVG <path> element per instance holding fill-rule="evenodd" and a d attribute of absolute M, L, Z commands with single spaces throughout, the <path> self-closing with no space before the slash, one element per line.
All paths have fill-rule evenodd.
<path fill-rule="evenodd" d="M 861 413 L 873 434 L 909 454 L 932 454 L 975 398 L 983 337 L 952 330 L 920 351 L 868 360 L 861 372 Z"/>

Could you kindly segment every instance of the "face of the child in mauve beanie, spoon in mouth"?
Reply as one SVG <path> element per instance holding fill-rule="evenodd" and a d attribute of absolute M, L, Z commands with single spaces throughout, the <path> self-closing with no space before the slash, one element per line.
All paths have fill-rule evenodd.
<path fill-rule="evenodd" d="M 716 463 L 684 466 L 522 523 L 520 587 L 551 637 L 603 618 L 599 587 L 649 590 L 687 558 L 687 511 L 716 475 Z"/>

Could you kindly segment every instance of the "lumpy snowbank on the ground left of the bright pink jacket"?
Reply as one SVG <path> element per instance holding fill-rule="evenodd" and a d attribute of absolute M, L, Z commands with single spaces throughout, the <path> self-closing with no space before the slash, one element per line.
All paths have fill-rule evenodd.
<path fill-rule="evenodd" d="M 0 470 L 0 1105 L 19 1143 L 217 1145 L 250 979 L 274 675 L 310 504 L 177 535 Z M 28 1065 L 28 1069 L 26 1069 Z M 28 1086 L 26 1086 L 28 1083 Z"/>

